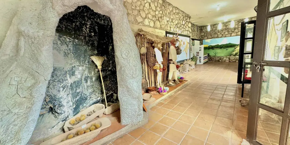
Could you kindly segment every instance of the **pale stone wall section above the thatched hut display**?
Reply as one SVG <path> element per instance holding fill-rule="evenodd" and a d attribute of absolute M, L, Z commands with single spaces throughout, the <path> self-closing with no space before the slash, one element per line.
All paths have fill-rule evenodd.
<path fill-rule="evenodd" d="M 166 0 L 125 0 L 124 6 L 129 23 L 192 35 L 190 15 Z"/>

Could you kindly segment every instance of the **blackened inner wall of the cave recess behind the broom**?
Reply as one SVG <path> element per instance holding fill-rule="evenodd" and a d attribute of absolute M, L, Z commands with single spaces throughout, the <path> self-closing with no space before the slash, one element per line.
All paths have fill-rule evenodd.
<path fill-rule="evenodd" d="M 105 104 L 99 70 L 90 60 L 94 55 L 106 57 L 102 64 L 106 97 L 115 103 L 118 98 L 113 94 L 118 94 L 118 86 L 112 22 L 88 6 L 79 6 L 59 19 L 53 71 L 31 143 L 61 131 L 64 121 L 80 110 Z"/>

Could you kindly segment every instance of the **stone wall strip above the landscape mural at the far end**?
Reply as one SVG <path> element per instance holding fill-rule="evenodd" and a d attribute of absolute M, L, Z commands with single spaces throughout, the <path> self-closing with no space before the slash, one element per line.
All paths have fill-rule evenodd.
<path fill-rule="evenodd" d="M 256 17 L 251 17 L 249 20 L 256 20 Z M 244 19 L 235 20 L 234 28 L 231 28 L 231 21 L 222 23 L 222 29 L 218 30 L 218 24 L 212 24 L 211 30 L 207 31 L 207 26 L 200 26 L 200 39 L 213 39 L 231 36 L 240 36 L 241 34 L 241 22 Z"/>

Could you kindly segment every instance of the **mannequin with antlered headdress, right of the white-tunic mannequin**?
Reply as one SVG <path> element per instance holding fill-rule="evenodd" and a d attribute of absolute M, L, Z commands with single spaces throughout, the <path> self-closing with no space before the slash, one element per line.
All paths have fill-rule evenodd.
<path fill-rule="evenodd" d="M 178 84 L 179 81 L 177 79 L 177 54 L 176 54 L 176 46 L 178 46 L 178 37 L 173 36 L 173 39 L 171 40 L 171 46 L 169 49 L 169 74 L 168 74 L 168 85 L 174 86 L 175 84 Z M 175 84 L 172 83 L 172 76 L 174 75 Z"/>

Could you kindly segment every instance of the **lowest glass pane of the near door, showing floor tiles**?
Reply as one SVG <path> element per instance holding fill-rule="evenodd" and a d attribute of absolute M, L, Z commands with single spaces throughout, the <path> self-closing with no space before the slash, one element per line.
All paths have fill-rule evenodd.
<path fill-rule="evenodd" d="M 259 108 L 256 140 L 263 145 L 278 145 L 282 117 Z"/>

